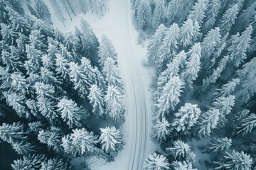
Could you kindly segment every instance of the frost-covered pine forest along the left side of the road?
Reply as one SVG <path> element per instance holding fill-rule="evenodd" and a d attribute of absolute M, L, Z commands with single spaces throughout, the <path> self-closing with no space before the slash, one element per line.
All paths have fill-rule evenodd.
<path fill-rule="evenodd" d="M 73 169 L 70 159 L 87 155 L 113 160 L 124 145 L 113 125 L 124 121 L 125 106 L 112 42 L 99 43 L 84 19 L 63 34 L 49 25 L 44 1 L 29 4 L 37 18 L 19 2 L 0 1 L 1 154 L 14 151 L 1 169 Z M 107 1 L 90 2 L 99 9 Z"/>

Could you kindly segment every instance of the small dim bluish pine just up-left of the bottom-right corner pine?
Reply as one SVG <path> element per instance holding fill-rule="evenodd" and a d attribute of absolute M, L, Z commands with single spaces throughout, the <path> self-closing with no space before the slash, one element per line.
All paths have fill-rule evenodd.
<path fill-rule="evenodd" d="M 208 146 L 208 149 L 210 152 L 224 152 L 228 151 L 232 145 L 232 140 L 228 139 L 228 137 L 224 138 L 215 138 L 213 137 L 213 140 L 210 141 L 210 145 Z"/>

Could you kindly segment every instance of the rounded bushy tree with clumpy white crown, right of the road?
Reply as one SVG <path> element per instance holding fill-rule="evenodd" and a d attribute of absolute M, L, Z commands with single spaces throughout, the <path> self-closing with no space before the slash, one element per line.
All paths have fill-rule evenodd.
<path fill-rule="evenodd" d="M 171 123 L 171 126 L 175 128 L 177 132 L 188 132 L 197 122 L 201 110 L 196 104 L 185 103 L 182 106 L 178 113 L 175 113 L 174 122 Z"/>

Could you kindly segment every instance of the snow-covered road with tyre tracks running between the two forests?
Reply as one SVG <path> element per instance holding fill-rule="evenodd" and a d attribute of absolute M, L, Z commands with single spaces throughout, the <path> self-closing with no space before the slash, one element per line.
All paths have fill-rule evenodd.
<path fill-rule="evenodd" d="M 149 139 L 151 130 L 151 92 L 149 91 L 151 73 L 142 67 L 146 49 L 137 45 L 137 32 L 132 26 L 132 11 L 129 0 L 110 0 L 109 12 L 102 18 L 87 13 L 89 22 L 100 39 L 103 34 L 112 40 L 118 53 L 119 69 L 122 72 L 126 89 L 127 116 L 122 132 L 126 145 L 114 162 L 92 157 L 88 160 L 90 169 L 142 169 L 147 154 L 156 150 L 156 144 Z M 52 10 L 52 9 L 50 9 Z M 65 32 L 79 26 L 81 16 L 55 26 Z M 57 18 L 53 17 L 53 20 Z"/>

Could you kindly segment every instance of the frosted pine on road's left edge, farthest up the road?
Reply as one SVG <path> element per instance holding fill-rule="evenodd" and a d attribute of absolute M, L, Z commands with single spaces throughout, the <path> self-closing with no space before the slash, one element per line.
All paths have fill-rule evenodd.
<path fill-rule="evenodd" d="M 109 40 L 106 35 L 102 35 L 98 55 L 100 57 L 98 62 L 102 68 L 104 67 L 105 62 L 109 57 L 114 60 L 115 64 L 117 64 L 117 52 L 114 50 L 112 41 Z"/>

